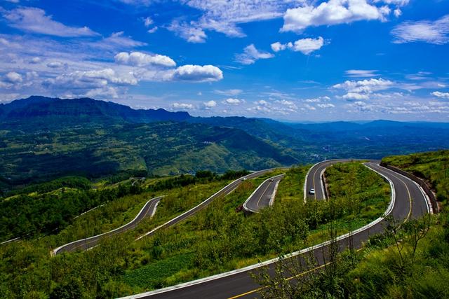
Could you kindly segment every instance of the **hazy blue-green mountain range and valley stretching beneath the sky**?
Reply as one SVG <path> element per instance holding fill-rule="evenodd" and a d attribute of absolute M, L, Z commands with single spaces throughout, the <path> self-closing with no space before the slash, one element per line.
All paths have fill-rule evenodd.
<path fill-rule="evenodd" d="M 449 148 L 448 123 L 198 118 L 89 98 L 33 96 L 0 104 L 0 182 L 133 170 L 224 172 L 440 148 Z"/>

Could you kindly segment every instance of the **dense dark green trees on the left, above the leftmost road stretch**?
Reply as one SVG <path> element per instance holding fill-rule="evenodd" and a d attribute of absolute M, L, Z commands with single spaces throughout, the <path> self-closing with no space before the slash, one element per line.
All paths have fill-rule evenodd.
<path fill-rule="evenodd" d="M 142 188 L 138 184 L 121 184 L 118 188 L 92 190 L 87 179 L 67 177 L 13 193 L 17 195 L 0 200 L 2 241 L 58 232 L 84 211 L 128 194 L 142 193 Z"/>

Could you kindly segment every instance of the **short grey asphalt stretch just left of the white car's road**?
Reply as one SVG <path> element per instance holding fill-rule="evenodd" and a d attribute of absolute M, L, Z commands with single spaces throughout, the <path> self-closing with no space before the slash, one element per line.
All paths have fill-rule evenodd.
<path fill-rule="evenodd" d="M 261 183 L 243 204 L 243 209 L 252 213 L 258 213 L 264 207 L 272 204 L 272 197 L 275 195 L 276 186 L 283 179 L 283 176 L 284 174 L 273 176 Z"/>

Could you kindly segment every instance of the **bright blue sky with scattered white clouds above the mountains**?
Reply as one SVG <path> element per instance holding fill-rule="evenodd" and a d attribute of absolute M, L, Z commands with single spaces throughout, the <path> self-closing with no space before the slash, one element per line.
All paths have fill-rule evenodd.
<path fill-rule="evenodd" d="M 9 0 L 0 102 L 448 121 L 448 45 L 445 0 Z"/>

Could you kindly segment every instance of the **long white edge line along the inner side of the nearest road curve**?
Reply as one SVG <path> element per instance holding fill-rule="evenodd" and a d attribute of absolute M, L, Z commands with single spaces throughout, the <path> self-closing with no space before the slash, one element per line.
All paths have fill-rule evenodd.
<path fill-rule="evenodd" d="M 366 166 L 366 167 L 368 167 L 368 166 Z M 368 167 L 368 168 L 370 168 L 370 167 Z M 372 169 L 374 172 L 377 172 L 373 168 L 370 168 L 370 169 Z M 357 230 L 353 230 L 352 232 L 348 232 L 347 234 L 344 234 L 344 235 L 341 235 L 340 237 L 337 237 L 337 239 L 336 239 L 337 242 L 342 240 L 342 239 L 345 239 L 345 238 L 347 238 L 347 237 L 349 237 L 351 235 L 356 235 L 358 232 L 362 232 L 363 230 L 367 230 L 368 228 L 372 228 L 374 225 L 376 225 L 377 223 L 380 223 L 380 221 L 384 220 L 384 218 L 386 216 L 388 216 L 391 213 L 391 211 L 393 210 L 394 203 L 396 202 L 396 191 L 394 189 L 394 184 L 393 184 L 393 182 L 389 178 L 387 178 L 387 176 L 384 176 L 380 172 L 377 172 L 377 174 L 380 174 L 382 177 L 387 179 L 389 181 L 389 183 L 390 183 L 391 200 L 390 200 L 390 204 L 389 204 L 389 207 L 388 207 L 387 211 L 385 211 L 383 216 L 377 218 L 375 221 L 373 221 L 371 223 L 368 223 L 367 225 L 363 226 L 362 228 L 358 228 Z M 284 256 L 283 258 L 291 258 L 291 257 L 294 257 L 294 256 L 299 256 L 300 254 L 304 254 L 304 253 L 307 253 L 308 251 L 319 249 L 319 248 L 321 248 L 323 246 L 326 246 L 328 244 L 330 244 L 330 241 L 326 241 L 326 242 L 323 242 L 323 243 L 320 243 L 320 244 L 316 244 L 314 246 L 307 247 L 306 249 L 302 249 L 300 251 L 295 251 L 293 253 L 289 253 L 286 256 Z M 271 260 L 266 260 L 264 262 L 257 263 L 255 265 L 249 265 L 249 266 L 243 267 L 241 269 L 232 270 L 232 271 L 225 272 L 225 273 L 220 273 L 220 274 L 215 274 L 215 275 L 210 276 L 210 277 L 204 277 L 204 278 L 201 278 L 201 279 L 196 279 L 194 281 L 188 281 L 188 282 L 185 282 L 183 284 L 177 284 L 175 286 L 168 286 L 167 288 L 161 288 L 159 290 L 149 291 L 149 292 L 146 292 L 146 293 L 140 293 L 140 294 L 136 294 L 136 295 L 130 295 L 130 296 L 127 296 L 127 297 L 122 297 L 120 299 L 137 299 L 137 298 L 142 298 L 142 297 L 146 297 L 146 296 L 149 296 L 149 295 L 156 295 L 156 294 L 160 294 L 160 293 L 166 293 L 168 291 L 173 291 L 173 290 L 176 290 L 176 289 L 179 289 L 179 288 L 186 288 L 188 286 L 194 286 L 196 284 L 202 284 L 202 283 L 204 283 L 206 281 L 213 281 L 215 279 L 220 279 L 222 277 L 232 276 L 234 274 L 239 274 L 241 272 L 246 272 L 248 270 L 254 270 L 254 269 L 257 269 L 258 267 L 263 267 L 265 265 L 270 265 L 270 264 L 276 263 L 278 261 L 279 261 L 279 258 L 273 258 Z"/>

